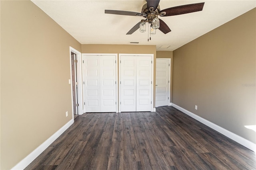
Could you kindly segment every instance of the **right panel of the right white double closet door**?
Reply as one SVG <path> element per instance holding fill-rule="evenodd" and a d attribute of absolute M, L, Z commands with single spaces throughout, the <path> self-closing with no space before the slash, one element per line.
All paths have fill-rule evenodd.
<path fill-rule="evenodd" d="M 151 56 L 136 57 L 136 111 L 151 111 Z"/>

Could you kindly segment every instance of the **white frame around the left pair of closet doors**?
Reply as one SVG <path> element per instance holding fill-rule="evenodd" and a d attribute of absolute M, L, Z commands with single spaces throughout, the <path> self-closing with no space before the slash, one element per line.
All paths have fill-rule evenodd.
<path fill-rule="evenodd" d="M 116 53 L 82 53 L 82 57 L 81 57 L 81 63 L 84 63 L 84 59 L 83 59 L 83 56 L 84 55 L 95 55 L 95 56 L 108 56 L 108 55 L 114 55 L 116 57 L 116 113 L 118 113 L 118 62 L 117 62 L 117 54 Z M 84 72 L 84 64 L 82 64 L 82 68 L 81 68 L 81 72 L 82 72 L 82 75 L 85 74 Z M 82 82 L 84 82 L 84 77 L 82 76 Z M 82 90 L 84 92 L 84 87 L 82 86 Z M 85 101 L 85 96 L 84 96 L 84 93 L 82 93 L 82 98 L 83 98 L 83 101 Z M 86 113 L 86 107 L 85 107 L 85 103 L 83 102 L 83 111 L 84 113 Z"/>

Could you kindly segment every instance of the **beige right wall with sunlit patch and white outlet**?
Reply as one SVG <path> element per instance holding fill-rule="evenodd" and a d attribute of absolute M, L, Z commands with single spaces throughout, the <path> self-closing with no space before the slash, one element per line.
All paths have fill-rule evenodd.
<path fill-rule="evenodd" d="M 256 143 L 256 9 L 173 56 L 172 103 Z"/>

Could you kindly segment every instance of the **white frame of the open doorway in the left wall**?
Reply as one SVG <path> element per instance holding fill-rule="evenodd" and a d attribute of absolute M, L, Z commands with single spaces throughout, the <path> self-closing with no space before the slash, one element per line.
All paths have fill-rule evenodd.
<path fill-rule="evenodd" d="M 76 76 L 77 76 L 77 94 L 78 94 L 78 100 L 77 103 L 79 104 L 78 106 L 78 115 L 82 115 L 83 114 L 83 98 L 82 98 L 82 55 L 81 53 L 74 49 L 73 47 L 69 47 L 69 59 L 70 59 L 70 79 L 68 80 L 68 83 L 70 84 L 71 87 L 71 102 L 72 102 L 72 118 L 74 119 L 74 111 L 73 111 L 73 87 L 71 84 L 71 79 L 72 79 L 72 63 L 71 63 L 71 52 L 76 54 L 76 59 L 77 59 L 77 63 L 76 63 Z"/>

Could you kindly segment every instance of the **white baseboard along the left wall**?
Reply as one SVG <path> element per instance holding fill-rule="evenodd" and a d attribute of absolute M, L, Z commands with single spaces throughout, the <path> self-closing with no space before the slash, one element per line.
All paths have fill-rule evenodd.
<path fill-rule="evenodd" d="M 44 143 L 33 150 L 26 158 L 21 160 L 12 170 L 23 170 L 26 168 L 38 155 L 40 155 L 47 147 L 49 147 L 68 127 L 74 123 L 74 119 L 71 119 L 66 125 L 62 126 L 58 131 L 56 131 L 51 137 L 49 137 Z"/>

